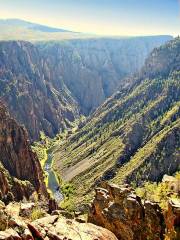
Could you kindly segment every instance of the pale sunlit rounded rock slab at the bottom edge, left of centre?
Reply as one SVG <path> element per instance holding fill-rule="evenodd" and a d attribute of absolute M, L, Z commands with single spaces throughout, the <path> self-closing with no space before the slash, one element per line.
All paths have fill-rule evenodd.
<path fill-rule="evenodd" d="M 29 225 L 28 225 L 29 226 Z M 117 240 L 113 233 L 90 223 L 78 223 L 62 216 L 50 216 L 31 223 L 30 230 L 40 239 Z"/>

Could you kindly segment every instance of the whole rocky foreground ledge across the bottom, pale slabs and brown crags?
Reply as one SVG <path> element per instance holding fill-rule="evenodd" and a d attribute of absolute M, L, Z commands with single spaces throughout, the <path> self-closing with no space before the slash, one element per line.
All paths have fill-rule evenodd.
<path fill-rule="evenodd" d="M 42 206 L 38 206 L 40 209 Z M 132 188 L 107 183 L 96 189 L 88 221 L 62 210 L 44 212 L 32 221 L 38 211 L 35 203 L 0 204 L 0 239 L 57 240 L 171 240 L 178 239 L 180 203 L 169 200 L 163 212 L 157 203 L 143 201 Z M 44 210 L 45 211 L 45 208 Z"/>

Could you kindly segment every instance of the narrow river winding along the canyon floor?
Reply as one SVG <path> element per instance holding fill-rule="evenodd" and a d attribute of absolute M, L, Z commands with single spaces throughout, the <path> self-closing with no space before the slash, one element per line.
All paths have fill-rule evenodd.
<path fill-rule="evenodd" d="M 48 159 L 44 166 L 44 171 L 48 175 L 48 188 L 51 190 L 55 200 L 59 203 L 63 200 L 63 194 L 61 192 L 55 172 L 53 171 L 52 162 L 53 156 L 52 153 L 49 153 Z"/>

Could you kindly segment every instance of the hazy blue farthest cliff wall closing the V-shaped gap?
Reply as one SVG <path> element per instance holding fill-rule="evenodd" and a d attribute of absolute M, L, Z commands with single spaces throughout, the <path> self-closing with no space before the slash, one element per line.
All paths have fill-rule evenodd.
<path fill-rule="evenodd" d="M 119 87 L 122 79 L 139 71 L 153 48 L 168 36 L 84 39 L 38 44 L 53 69 L 55 85 L 63 81 L 88 115 Z"/>

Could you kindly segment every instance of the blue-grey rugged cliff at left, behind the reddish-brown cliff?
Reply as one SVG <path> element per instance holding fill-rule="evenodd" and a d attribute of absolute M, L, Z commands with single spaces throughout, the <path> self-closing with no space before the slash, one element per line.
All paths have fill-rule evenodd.
<path fill-rule="evenodd" d="M 38 49 L 28 42 L 0 42 L 0 97 L 32 140 L 40 131 L 54 136 L 78 117 L 78 107 Z"/>

